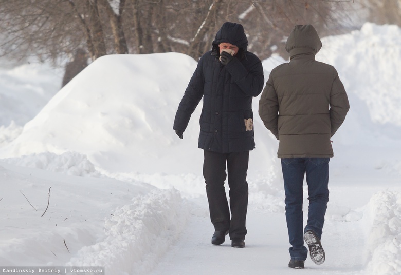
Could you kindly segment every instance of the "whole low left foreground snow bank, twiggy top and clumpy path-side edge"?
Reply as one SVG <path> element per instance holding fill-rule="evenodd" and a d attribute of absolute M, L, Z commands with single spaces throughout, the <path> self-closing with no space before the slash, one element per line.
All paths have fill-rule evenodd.
<path fill-rule="evenodd" d="M 64 165 L 58 158 L 51 163 Z M 143 274 L 185 226 L 188 203 L 175 189 L 99 178 L 80 162 L 58 172 L 0 164 L 0 266 L 105 266 L 110 274 L 131 268 Z M 72 167 L 81 176 L 60 174 Z"/>

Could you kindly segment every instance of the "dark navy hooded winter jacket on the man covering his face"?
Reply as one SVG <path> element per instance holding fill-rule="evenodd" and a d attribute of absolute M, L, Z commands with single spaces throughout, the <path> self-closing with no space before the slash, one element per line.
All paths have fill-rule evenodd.
<path fill-rule="evenodd" d="M 173 127 L 184 132 L 203 97 L 198 148 L 220 153 L 249 151 L 255 147 L 254 132 L 246 131 L 244 119 L 253 120 L 252 97 L 261 93 L 264 84 L 262 63 L 246 51 L 245 33 L 242 36 L 231 33 L 223 25 L 217 32 L 213 49 L 200 58 L 178 106 Z M 218 61 L 221 42 L 240 48 L 226 66 Z"/>

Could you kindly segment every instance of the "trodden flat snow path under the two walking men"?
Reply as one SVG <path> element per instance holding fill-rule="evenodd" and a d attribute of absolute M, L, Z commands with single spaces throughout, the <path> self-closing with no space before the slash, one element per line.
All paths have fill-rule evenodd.
<path fill-rule="evenodd" d="M 335 188 L 332 188 L 332 193 L 336 193 Z M 343 192 L 339 190 L 337 193 L 341 195 Z M 332 195 L 333 201 L 335 196 L 336 194 Z M 352 199 L 351 194 L 349 197 Z M 151 275 L 293 274 L 294 270 L 287 267 L 290 258 L 284 213 L 268 213 L 251 205 L 247 218 L 246 247 L 232 248 L 228 237 L 223 245 L 214 246 L 210 243 L 213 234 L 210 219 L 200 214 L 207 212 L 207 200 L 199 198 L 196 202 L 199 208 L 193 210 L 177 243 L 161 259 Z M 344 209 L 332 209 L 328 212 L 337 211 L 340 214 Z M 305 262 L 308 273 L 357 274 L 363 269 L 366 230 L 363 229 L 361 214 L 343 214 L 350 218 L 354 215 L 355 220 L 345 222 L 327 219 L 322 238 L 326 261 L 317 266 L 308 258 Z"/>

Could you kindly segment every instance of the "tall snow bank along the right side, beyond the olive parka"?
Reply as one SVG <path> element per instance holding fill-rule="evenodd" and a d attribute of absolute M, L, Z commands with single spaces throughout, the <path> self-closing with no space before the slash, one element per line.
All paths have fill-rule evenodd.
<path fill-rule="evenodd" d="M 383 188 L 363 208 L 362 273 L 400 274 L 401 29 L 366 23 L 360 31 L 325 37 L 322 42 L 325 46 L 316 59 L 335 66 L 351 103 L 341 134 L 334 136 L 342 145 L 335 154 L 345 155 L 342 160 L 347 164 L 341 168 L 349 170 L 355 180 L 352 185 L 366 188 L 363 180 L 376 178 L 375 187 Z M 369 171 L 379 173 L 370 178 Z M 358 193 L 362 191 L 355 194 L 355 201 Z"/>

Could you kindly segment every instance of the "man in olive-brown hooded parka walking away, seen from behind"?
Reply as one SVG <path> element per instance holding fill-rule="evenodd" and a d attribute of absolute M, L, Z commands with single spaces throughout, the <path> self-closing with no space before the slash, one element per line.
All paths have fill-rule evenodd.
<path fill-rule="evenodd" d="M 322 47 L 312 25 L 297 25 L 285 45 L 290 61 L 274 68 L 259 101 L 259 115 L 279 142 L 284 179 L 291 268 L 304 268 L 307 249 L 322 264 L 324 215 L 329 201 L 331 137 L 350 105 L 336 69 L 315 60 Z M 308 220 L 303 228 L 303 179 L 308 185 Z"/>

